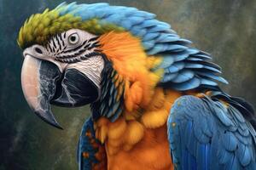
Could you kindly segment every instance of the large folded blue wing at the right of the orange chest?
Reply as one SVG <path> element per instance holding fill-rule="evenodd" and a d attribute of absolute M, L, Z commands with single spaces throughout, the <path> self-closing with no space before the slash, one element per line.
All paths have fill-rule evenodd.
<path fill-rule="evenodd" d="M 172 106 L 167 127 L 176 169 L 256 167 L 255 130 L 232 105 L 182 96 Z"/>

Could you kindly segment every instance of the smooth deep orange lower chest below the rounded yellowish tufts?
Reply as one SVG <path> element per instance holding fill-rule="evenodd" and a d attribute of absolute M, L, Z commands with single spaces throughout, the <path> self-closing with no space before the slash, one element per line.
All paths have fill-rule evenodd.
<path fill-rule="evenodd" d="M 172 159 L 169 153 L 166 126 L 145 129 L 143 139 L 131 150 L 118 150 L 107 141 L 105 149 L 108 157 L 108 170 L 170 170 Z"/>

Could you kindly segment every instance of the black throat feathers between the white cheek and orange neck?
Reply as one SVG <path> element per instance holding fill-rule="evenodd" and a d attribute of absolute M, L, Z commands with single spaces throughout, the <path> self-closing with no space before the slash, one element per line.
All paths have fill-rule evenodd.
<path fill-rule="evenodd" d="M 118 74 L 113 69 L 112 63 L 103 55 L 104 69 L 102 71 L 101 94 L 100 99 L 90 105 L 92 118 L 96 121 L 99 117 L 107 117 L 111 122 L 114 122 L 121 116 L 124 111 L 124 91 L 120 99 L 117 99 L 118 88 L 125 89 L 125 82 L 120 82 L 118 87 L 115 87 L 114 77 Z M 123 86 L 123 87 L 120 87 Z"/>

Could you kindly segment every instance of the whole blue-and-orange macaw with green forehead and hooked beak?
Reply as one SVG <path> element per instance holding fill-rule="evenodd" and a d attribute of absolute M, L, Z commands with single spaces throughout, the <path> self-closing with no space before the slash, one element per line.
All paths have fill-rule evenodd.
<path fill-rule="evenodd" d="M 256 169 L 253 106 L 224 93 L 220 67 L 155 14 L 61 3 L 20 28 L 28 105 L 89 105 L 79 170 Z"/>

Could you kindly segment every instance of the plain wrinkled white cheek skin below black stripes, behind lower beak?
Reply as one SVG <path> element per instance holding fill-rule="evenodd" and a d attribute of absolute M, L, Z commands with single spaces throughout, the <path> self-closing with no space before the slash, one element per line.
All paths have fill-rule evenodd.
<path fill-rule="evenodd" d="M 98 88 L 100 88 L 103 68 L 104 60 L 100 55 L 91 57 L 89 59 L 84 59 L 78 63 L 67 65 L 67 69 L 76 69 L 84 73 L 84 75 L 94 82 Z"/>

